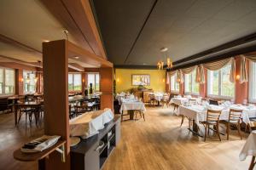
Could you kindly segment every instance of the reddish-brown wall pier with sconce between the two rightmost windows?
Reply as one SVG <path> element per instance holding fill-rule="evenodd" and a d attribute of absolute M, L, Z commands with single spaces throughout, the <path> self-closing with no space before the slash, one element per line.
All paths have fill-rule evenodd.
<path fill-rule="evenodd" d="M 240 77 L 240 64 L 241 64 L 241 57 L 236 57 L 236 99 L 235 102 L 237 104 L 242 104 L 244 99 L 248 99 L 248 82 L 239 82 Z M 249 62 L 247 61 L 247 73 L 249 71 Z"/>

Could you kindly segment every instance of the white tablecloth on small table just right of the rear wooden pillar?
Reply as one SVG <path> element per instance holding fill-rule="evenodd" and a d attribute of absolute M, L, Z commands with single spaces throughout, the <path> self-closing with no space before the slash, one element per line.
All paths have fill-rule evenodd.
<path fill-rule="evenodd" d="M 142 101 L 125 101 L 120 107 L 120 113 L 123 111 L 146 111 L 146 107 Z"/>

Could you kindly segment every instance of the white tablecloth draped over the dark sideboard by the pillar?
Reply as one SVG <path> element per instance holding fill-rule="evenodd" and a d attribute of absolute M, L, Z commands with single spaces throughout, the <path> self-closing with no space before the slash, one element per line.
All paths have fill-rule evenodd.
<path fill-rule="evenodd" d="M 113 120 L 113 112 L 110 109 L 84 113 L 69 121 L 70 136 L 87 139 L 99 133 L 99 130 L 111 120 Z"/>

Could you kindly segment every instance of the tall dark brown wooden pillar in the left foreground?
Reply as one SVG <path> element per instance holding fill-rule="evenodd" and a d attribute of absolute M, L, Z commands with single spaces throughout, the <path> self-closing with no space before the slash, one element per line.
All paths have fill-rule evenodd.
<path fill-rule="evenodd" d="M 70 169 L 68 117 L 68 56 L 67 41 L 43 42 L 44 70 L 44 133 L 60 135 L 67 141 L 66 161 L 53 152 L 45 161 L 46 170 Z"/>

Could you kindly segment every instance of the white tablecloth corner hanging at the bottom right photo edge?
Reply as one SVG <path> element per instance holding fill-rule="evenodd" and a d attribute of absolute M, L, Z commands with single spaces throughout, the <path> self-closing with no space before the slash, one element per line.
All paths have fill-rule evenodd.
<path fill-rule="evenodd" d="M 247 138 L 247 142 L 241 149 L 239 159 L 244 161 L 247 156 L 256 156 L 256 131 L 254 130 L 249 137 Z"/>

